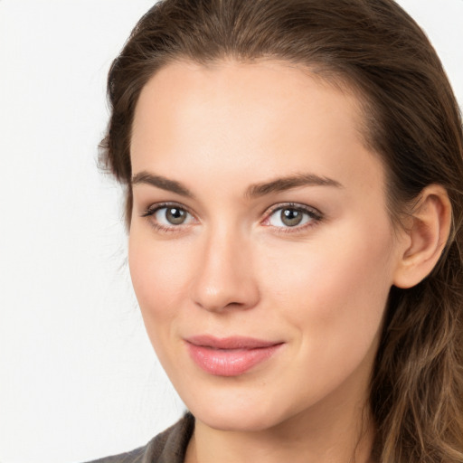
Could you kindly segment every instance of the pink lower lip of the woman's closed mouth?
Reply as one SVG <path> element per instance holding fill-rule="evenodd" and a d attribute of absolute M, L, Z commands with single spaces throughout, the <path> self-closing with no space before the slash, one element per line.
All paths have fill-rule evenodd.
<path fill-rule="evenodd" d="M 281 344 L 256 348 L 214 349 L 186 343 L 190 356 L 204 372 L 216 376 L 238 376 L 261 364 L 277 352 Z"/>

